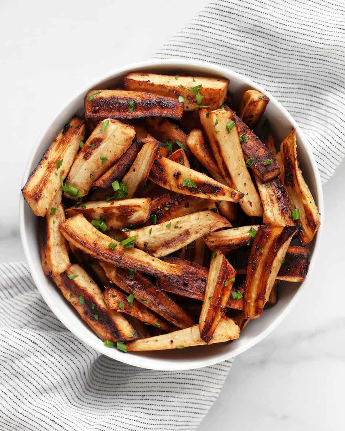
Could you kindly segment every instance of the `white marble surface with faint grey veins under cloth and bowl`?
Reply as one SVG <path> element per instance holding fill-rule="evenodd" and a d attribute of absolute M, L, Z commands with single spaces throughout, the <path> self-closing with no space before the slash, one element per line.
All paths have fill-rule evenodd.
<path fill-rule="evenodd" d="M 41 128 L 76 88 L 150 58 L 206 3 L 2 2 L 0 262 L 25 259 L 19 188 Z M 344 185 L 342 163 L 324 187 L 323 248 L 309 290 L 276 331 L 235 360 L 200 431 L 344 428 Z"/>

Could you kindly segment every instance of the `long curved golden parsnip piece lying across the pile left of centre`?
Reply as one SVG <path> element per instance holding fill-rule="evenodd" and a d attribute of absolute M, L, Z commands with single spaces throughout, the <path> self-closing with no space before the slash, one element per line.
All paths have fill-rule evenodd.
<path fill-rule="evenodd" d="M 59 228 L 69 243 L 95 259 L 143 271 L 146 274 L 178 275 L 183 273 L 183 269 L 179 266 L 169 265 L 142 250 L 122 247 L 118 241 L 94 228 L 81 214 L 60 222 Z M 113 244 L 115 245 L 113 246 Z"/>

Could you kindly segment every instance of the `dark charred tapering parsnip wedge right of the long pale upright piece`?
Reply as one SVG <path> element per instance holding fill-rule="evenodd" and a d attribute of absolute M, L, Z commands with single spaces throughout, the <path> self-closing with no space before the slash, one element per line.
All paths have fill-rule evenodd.
<path fill-rule="evenodd" d="M 232 120 L 237 127 L 238 135 L 246 159 L 247 166 L 256 174 L 261 181 L 269 181 L 276 178 L 280 169 L 270 150 L 264 145 L 254 132 L 232 112 Z"/>

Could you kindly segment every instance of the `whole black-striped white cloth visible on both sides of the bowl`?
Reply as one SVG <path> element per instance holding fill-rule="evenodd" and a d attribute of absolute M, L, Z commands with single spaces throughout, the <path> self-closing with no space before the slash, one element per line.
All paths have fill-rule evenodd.
<path fill-rule="evenodd" d="M 209 3 L 156 58 L 213 62 L 267 88 L 301 125 L 323 181 L 344 157 L 342 2 Z M 25 263 L 0 265 L 0 430 L 194 430 L 232 360 L 162 372 L 98 354 L 48 309 Z"/>

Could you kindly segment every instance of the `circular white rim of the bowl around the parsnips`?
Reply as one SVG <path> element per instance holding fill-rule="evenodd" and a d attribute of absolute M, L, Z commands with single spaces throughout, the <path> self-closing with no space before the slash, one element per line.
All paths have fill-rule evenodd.
<path fill-rule="evenodd" d="M 243 83 L 247 84 L 248 87 L 254 88 L 258 91 L 261 91 L 265 95 L 267 95 L 270 98 L 271 102 L 274 102 L 277 106 L 279 106 L 279 109 L 282 111 L 282 115 L 285 116 L 285 118 L 290 122 L 293 128 L 296 129 L 296 132 L 299 137 L 299 145 L 302 144 L 302 147 L 304 148 L 305 152 L 307 153 L 307 157 L 309 159 L 309 162 L 311 163 L 314 180 L 316 183 L 316 194 L 317 194 L 317 201 L 318 201 L 318 208 L 320 212 L 320 228 L 318 229 L 317 235 L 314 237 L 314 252 L 313 252 L 313 258 L 311 259 L 311 263 L 309 266 L 309 272 L 310 274 L 314 268 L 315 262 L 317 260 L 318 252 L 320 249 L 320 243 L 322 238 L 322 232 L 323 232 L 323 214 L 324 214 L 324 207 L 323 207 L 323 191 L 322 191 L 322 184 L 320 179 L 320 173 L 317 168 L 317 164 L 314 158 L 314 154 L 311 149 L 311 145 L 308 143 L 306 137 L 304 136 L 303 132 L 301 131 L 301 128 L 298 126 L 298 124 L 295 122 L 295 120 L 292 118 L 290 113 L 285 109 L 282 104 L 276 100 L 276 98 L 270 94 L 270 92 L 266 91 L 260 84 L 255 83 L 250 78 L 246 77 L 245 75 L 242 75 L 238 72 L 234 72 L 226 67 L 216 65 L 210 62 L 204 62 L 199 60 L 189 60 L 189 59 L 183 59 L 183 58 L 174 58 L 174 59 L 151 59 L 146 60 L 142 62 L 136 62 L 132 63 L 126 66 L 122 66 L 119 68 L 116 68 L 112 70 L 111 72 L 104 73 L 97 79 L 94 79 L 91 83 L 84 85 L 81 87 L 80 90 L 76 91 L 72 97 L 69 98 L 67 103 L 64 103 L 60 109 L 56 110 L 55 114 L 53 115 L 53 118 L 51 121 L 48 121 L 47 124 L 44 126 L 44 128 L 41 130 L 41 133 L 38 135 L 38 138 L 32 147 L 30 156 L 28 158 L 28 161 L 25 166 L 25 170 L 22 177 L 22 187 L 25 185 L 28 176 L 31 174 L 31 165 L 36 157 L 36 153 L 38 150 L 38 147 L 40 146 L 44 135 L 47 133 L 55 119 L 61 115 L 61 113 L 66 110 L 78 97 L 81 97 L 83 94 L 87 94 L 90 88 L 95 88 L 100 82 L 107 81 L 110 79 L 115 79 L 119 75 L 123 75 L 124 73 L 129 73 L 133 69 L 137 69 L 140 67 L 147 67 L 152 66 L 153 68 L 157 68 L 159 66 L 166 66 L 167 68 L 171 66 L 171 68 L 185 68 L 188 69 L 188 67 L 194 66 L 194 67 L 202 67 L 203 69 L 208 69 L 210 74 L 216 73 L 217 75 L 224 74 L 227 78 L 231 79 L 240 79 Z M 25 208 L 25 200 L 22 196 L 22 193 L 20 193 L 19 197 L 19 231 L 20 231 L 20 237 L 22 241 L 22 246 L 24 249 L 25 257 L 28 262 L 29 271 L 31 273 L 31 277 L 34 280 L 34 284 L 38 288 L 38 291 L 40 292 L 41 296 L 43 297 L 44 301 L 49 306 L 50 310 L 56 315 L 56 317 L 60 320 L 60 322 L 63 323 L 63 325 L 66 326 L 66 328 L 69 329 L 78 339 L 82 340 L 85 344 L 87 344 L 89 347 L 94 348 L 98 353 L 104 354 L 112 359 L 116 359 L 120 362 L 124 362 L 129 365 L 134 365 L 140 368 L 146 368 L 146 369 L 155 369 L 155 370 L 164 370 L 164 371 L 182 371 L 182 370 L 191 370 L 191 369 L 198 369 L 202 368 L 208 365 L 214 365 L 219 362 L 223 362 L 227 359 L 231 359 L 246 350 L 253 347 L 255 344 L 263 340 L 265 337 L 267 337 L 268 334 L 270 334 L 274 329 L 276 329 L 283 319 L 289 314 L 289 312 L 292 310 L 292 308 L 295 306 L 296 301 L 298 300 L 299 296 L 301 295 L 302 288 L 305 288 L 308 283 L 308 276 L 307 279 L 301 284 L 300 287 L 298 287 L 298 290 L 294 294 L 294 297 L 292 300 L 290 300 L 289 304 L 285 306 L 285 309 L 277 315 L 275 319 L 269 324 L 269 326 L 260 334 L 253 337 L 251 340 L 248 341 L 244 346 L 238 347 L 235 352 L 225 352 L 221 353 L 217 356 L 209 357 L 209 358 L 201 358 L 199 359 L 200 363 L 195 364 L 195 359 L 193 360 L 193 365 L 188 365 L 188 361 L 174 361 L 174 365 L 167 367 L 165 364 L 169 363 L 169 361 L 166 361 L 161 358 L 147 358 L 144 356 L 136 356 L 132 354 L 126 354 L 124 355 L 122 352 L 119 352 L 117 349 L 109 349 L 107 347 L 103 347 L 103 344 L 99 343 L 99 340 L 97 337 L 94 337 L 94 339 L 90 339 L 86 337 L 84 334 L 82 334 L 80 331 L 78 331 L 70 322 L 69 319 L 66 317 L 65 313 L 63 313 L 63 310 L 60 310 L 59 307 L 56 307 L 53 303 L 53 301 L 50 298 L 48 290 L 45 288 L 43 284 L 41 284 L 37 269 L 34 265 L 33 260 L 31 259 L 30 249 L 28 246 L 28 240 L 26 237 L 26 229 L 25 229 L 25 220 L 24 220 L 24 208 Z M 67 303 L 66 303 L 67 306 Z"/>

